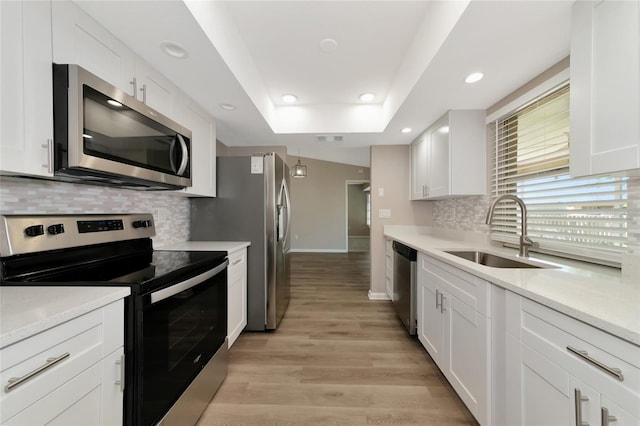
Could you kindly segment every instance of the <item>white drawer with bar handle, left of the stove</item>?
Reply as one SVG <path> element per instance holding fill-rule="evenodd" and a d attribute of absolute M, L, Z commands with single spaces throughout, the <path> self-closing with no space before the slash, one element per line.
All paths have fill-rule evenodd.
<path fill-rule="evenodd" d="M 103 356 L 103 310 L 96 310 L 3 348 L 0 353 L 0 423 L 51 393 Z M 66 357 L 63 357 L 66 354 Z M 8 390 L 9 379 L 38 370 L 61 358 L 30 380 Z"/>

